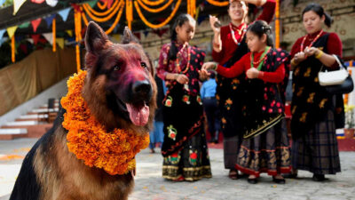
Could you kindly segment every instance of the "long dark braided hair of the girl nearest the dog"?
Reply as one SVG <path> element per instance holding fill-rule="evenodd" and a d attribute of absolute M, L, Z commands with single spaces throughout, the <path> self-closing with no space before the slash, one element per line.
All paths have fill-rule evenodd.
<path fill-rule="evenodd" d="M 194 21 L 193 17 L 191 15 L 183 13 L 178 15 L 177 19 L 174 22 L 174 25 L 171 27 L 170 30 L 170 40 L 171 40 L 171 46 L 170 46 L 170 51 L 169 51 L 169 56 L 168 60 L 177 60 L 177 46 L 175 43 L 177 42 L 177 31 L 175 28 L 181 27 L 185 24 L 186 21 Z"/>

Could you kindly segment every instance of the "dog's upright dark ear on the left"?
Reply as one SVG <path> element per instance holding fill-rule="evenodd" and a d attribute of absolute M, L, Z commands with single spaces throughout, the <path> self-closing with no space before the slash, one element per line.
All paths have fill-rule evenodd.
<path fill-rule="evenodd" d="M 89 22 L 85 35 L 85 48 L 87 52 L 94 53 L 102 50 L 108 42 L 104 30 L 93 21 Z"/>

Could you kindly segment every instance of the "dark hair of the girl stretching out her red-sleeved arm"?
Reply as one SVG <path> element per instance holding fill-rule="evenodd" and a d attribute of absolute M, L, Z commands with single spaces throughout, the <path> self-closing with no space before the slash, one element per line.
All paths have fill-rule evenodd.
<path fill-rule="evenodd" d="M 254 23 L 248 26 L 247 31 L 252 32 L 259 38 L 266 35 L 266 45 L 273 46 L 272 40 L 272 27 L 270 27 L 264 20 L 256 20 Z"/>

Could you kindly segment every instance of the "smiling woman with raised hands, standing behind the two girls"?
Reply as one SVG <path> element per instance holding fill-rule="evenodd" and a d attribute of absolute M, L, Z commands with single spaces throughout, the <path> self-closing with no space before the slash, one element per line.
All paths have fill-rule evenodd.
<path fill-rule="evenodd" d="M 215 33 L 213 39 L 213 60 L 225 68 L 230 68 L 233 63 L 240 60 L 248 52 L 245 43 L 245 33 L 248 28 L 246 16 L 248 15 L 248 4 L 263 6 L 263 12 L 256 20 L 272 21 L 275 12 L 275 0 L 230 0 L 228 14 L 231 22 L 219 28 L 215 27 L 218 19 L 210 17 L 210 26 Z M 241 78 L 226 78 L 217 76 L 218 108 L 221 112 L 222 132 L 224 134 L 224 159 L 225 169 L 229 169 L 229 177 L 238 179 L 238 172 L 235 169 L 237 152 L 241 144 L 241 108 L 236 98 L 241 92 Z"/>

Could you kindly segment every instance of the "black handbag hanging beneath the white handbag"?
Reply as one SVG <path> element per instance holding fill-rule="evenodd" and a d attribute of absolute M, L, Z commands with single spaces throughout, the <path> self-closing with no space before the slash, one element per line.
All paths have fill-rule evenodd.
<path fill-rule="evenodd" d="M 333 56 L 335 57 L 336 62 L 339 64 L 339 67 L 346 69 L 343 60 L 339 58 L 337 55 L 333 55 Z M 331 94 L 344 94 L 344 93 L 352 92 L 352 90 L 354 89 L 354 83 L 352 81 L 351 75 L 349 74 L 342 84 L 327 85 L 324 87 L 326 88 L 327 92 Z"/>

